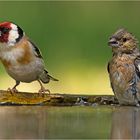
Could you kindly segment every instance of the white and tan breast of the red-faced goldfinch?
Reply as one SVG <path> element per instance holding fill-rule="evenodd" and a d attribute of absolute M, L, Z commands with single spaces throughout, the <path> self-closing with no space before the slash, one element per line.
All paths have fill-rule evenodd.
<path fill-rule="evenodd" d="M 26 65 L 33 61 L 33 53 L 27 41 L 0 52 L 0 59 L 6 68 L 15 65 Z"/>

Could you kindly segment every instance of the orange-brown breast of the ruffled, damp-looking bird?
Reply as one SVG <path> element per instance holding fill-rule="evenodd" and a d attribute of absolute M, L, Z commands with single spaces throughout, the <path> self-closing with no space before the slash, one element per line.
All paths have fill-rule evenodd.
<path fill-rule="evenodd" d="M 132 80 L 135 67 L 129 57 L 118 57 L 112 59 L 109 70 L 111 82 L 116 86 L 125 87 Z"/>

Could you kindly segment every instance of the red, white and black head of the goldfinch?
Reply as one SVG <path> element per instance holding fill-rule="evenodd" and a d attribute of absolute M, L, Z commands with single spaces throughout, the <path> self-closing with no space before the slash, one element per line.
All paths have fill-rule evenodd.
<path fill-rule="evenodd" d="M 12 22 L 0 23 L 0 47 L 14 46 L 24 36 L 23 30 Z"/>

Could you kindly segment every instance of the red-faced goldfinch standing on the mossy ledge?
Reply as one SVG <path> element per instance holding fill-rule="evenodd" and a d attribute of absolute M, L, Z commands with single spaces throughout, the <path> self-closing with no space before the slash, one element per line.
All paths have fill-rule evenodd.
<path fill-rule="evenodd" d="M 38 81 L 39 93 L 50 91 L 42 83 L 58 81 L 45 70 L 44 61 L 39 49 L 25 35 L 24 31 L 12 22 L 0 23 L 0 60 L 7 73 L 16 81 L 10 91 L 17 92 L 20 82 Z M 42 83 L 41 83 L 42 82 Z"/>

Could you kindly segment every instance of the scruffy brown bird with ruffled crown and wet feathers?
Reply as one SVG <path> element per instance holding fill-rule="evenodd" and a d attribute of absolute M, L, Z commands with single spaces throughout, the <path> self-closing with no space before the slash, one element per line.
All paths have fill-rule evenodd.
<path fill-rule="evenodd" d="M 137 39 L 126 29 L 109 39 L 112 59 L 108 63 L 111 87 L 120 104 L 140 105 L 140 50 Z"/>

